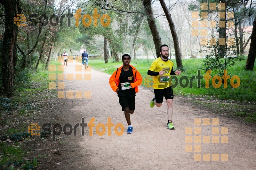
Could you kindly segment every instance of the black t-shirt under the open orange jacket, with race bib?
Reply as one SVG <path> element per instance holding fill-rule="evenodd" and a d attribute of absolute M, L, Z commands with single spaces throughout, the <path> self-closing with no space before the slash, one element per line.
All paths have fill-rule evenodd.
<path fill-rule="evenodd" d="M 119 76 L 120 83 L 118 85 L 119 91 L 117 92 L 117 96 L 126 96 L 126 97 L 135 97 L 135 89 L 130 88 L 126 90 L 122 90 L 122 85 L 121 83 L 133 83 L 134 82 L 134 77 L 133 77 L 133 72 L 132 72 L 132 67 L 130 66 L 129 70 L 124 71 L 124 68 L 122 68 L 120 76 Z"/>

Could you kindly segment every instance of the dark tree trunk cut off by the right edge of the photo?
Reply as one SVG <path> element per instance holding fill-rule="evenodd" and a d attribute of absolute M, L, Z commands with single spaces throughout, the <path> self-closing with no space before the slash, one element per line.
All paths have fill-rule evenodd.
<path fill-rule="evenodd" d="M 250 44 L 248 58 L 245 65 L 245 70 L 253 70 L 255 56 L 256 56 L 256 16 L 252 24 L 251 44 Z"/>

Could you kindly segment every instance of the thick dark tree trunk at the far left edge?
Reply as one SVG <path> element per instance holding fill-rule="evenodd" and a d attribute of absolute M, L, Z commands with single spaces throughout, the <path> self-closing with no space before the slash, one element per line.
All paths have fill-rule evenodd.
<path fill-rule="evenodd" d="M 16 25 L 13 17 L 17 16 L 19 0 L 0 1 L 4 5 L 5 10 L 5 28 L 2 49 L 2 90 L 3 94 L 10 97 L 14 93 L 14 67 L 13 53 L 15 52 Z"/>

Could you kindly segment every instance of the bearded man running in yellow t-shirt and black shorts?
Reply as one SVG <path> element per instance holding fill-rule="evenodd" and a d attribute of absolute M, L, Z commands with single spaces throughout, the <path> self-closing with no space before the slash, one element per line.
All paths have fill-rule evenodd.
<path fill-rule="evenodd" d="M 169 48 L 166 44 L 161 45 L 159 48 L 161 57 L 158 57 L 148 69 L 148 75 L 154 76 L 154 93 L 155 97 L 150 101 L 150 107 L 161 107 L 163 99 L 165 97 L 167 103 L 167 129 L 174 129 L 172 124 L 172 101 L 173 101 L 173 91 L 172 91 L 172 82 L 170 80 L 170 75 L 180 76 L 181 71 L 173 71 L 173 62 L 168 59 L 169 57 Z M 170 81 L 169 81 L 170 80 Z"/>

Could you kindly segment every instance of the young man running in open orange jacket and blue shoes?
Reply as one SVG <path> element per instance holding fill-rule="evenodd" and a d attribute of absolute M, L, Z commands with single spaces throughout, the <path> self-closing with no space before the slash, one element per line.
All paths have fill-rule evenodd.
<path fill-rule="evenodd" d="M 119 104 L 122 106 L 122 111 L 124 111 L 128 123 L 127 133 L 132 133 L 130 114 L 133 114 L 135 110 L 135 93 L 139 91 L 138 86 L 142 82 L 142 77 L 139 71 L 130 65 L 130 55 L 124 54 L 122 62 L 124 64 L 112 74 L 109 84 L 119 97 Z"/>

